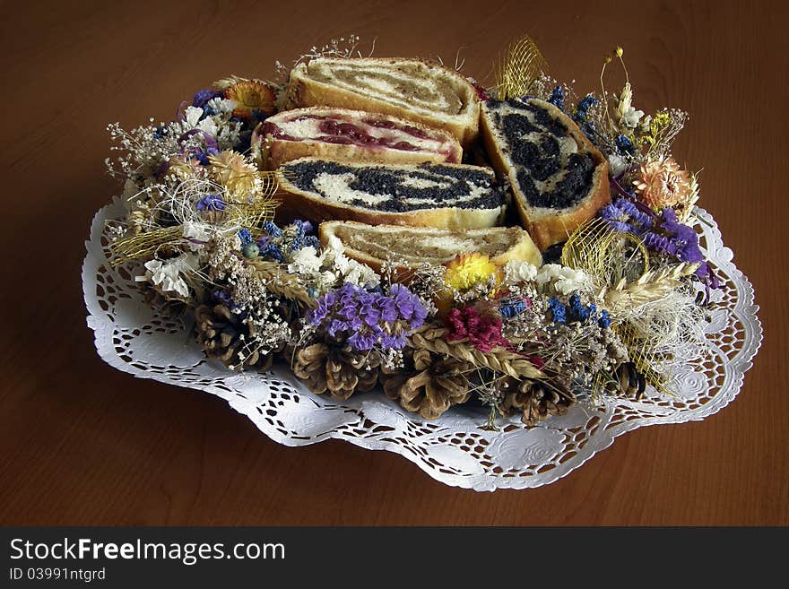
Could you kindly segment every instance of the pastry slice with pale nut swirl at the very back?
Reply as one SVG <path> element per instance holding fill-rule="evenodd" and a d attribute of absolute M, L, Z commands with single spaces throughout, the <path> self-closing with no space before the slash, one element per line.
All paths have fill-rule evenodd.
<path fill-rule="evenodd" d="M 290 72 L 289 108 L 357 108 L 445 129 L 464 146 L 478 134 L 473 85 L 443 65 L 420 59 L 319 57 Z"/>

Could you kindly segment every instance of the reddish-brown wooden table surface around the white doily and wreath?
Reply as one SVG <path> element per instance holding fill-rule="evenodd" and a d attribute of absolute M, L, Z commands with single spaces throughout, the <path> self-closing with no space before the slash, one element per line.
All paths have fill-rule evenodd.
<path fill-rule="evenodd" d="M 784 3 L 2 7 L 0 524 L 789 524 Z M 386 452 L 280 446 L 221 399 L 105 365 L 80 267 L 92 215 L 118 189 L 106 124 L 167 119 L 215 79 L 272 77 L 276 59 L 349 33 L 377 38 L 377 56 L 454 64 L 460 49 L 481 80 L 528 33 L 579 92 L 625 48 L 637 106 L 689 111 L 675 156 L 704 170 L 701 204 L 756 288 L 765 341 L 737 399 L 626 434 L 547 487 L 476 493 Z"/>

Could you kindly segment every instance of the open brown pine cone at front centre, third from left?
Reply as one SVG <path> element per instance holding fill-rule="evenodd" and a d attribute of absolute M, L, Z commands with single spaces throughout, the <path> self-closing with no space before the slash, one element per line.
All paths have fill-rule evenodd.
<path fill-rule="evenodd" d="M 408 372 L 381 374 L 386 396 L 400 401 L 404 409 L 435 420 L 452 405 L 468 401 L 469 363 L 421 349 L 413 352 L 408 364 L 413 367 Z"/>

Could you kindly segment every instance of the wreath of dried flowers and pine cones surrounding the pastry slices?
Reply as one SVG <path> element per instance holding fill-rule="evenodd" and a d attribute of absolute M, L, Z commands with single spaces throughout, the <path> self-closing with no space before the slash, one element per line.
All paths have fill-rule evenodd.
<path fill-rule="evenodd" d="M 332 41 L 297 63 L 351 56 L 358 43 Z M 622 56 L 606 57 L 601 83 Z M 696 175 L 671 155 L 687 115 L 645 116 L 629 81 L 571 100 L 545 68 L 522 39 L 497 85 L 479 91 L 550 102 L 608 160 L 611 203 L 555 263 L 467 252 L 403 281 L 395 258 L 377 272 L 342 244 L 321 244 L 313 222 L 275 219 L 280 177 L 258 168 L 250 141 L 282 84 L 231 76 L 182 103 L 174 121 L 108 126 L 122 152 L 108 169 L 125 182 L 127 209 L 106 230 L 114 264 L 129 264 L 174 312 L 193 313 L 205 354 L 230 369 L 281 360 L 337 399 L 380 385 L 426 420 L 476 402 L 490 411 L 484 427 L 512 414 L 534 425 L 580 400 L 637 398 L 647 385 L 672 394 L 672 365 L 705 353 L 703 305 L 719 286 L 693 229 Z"/>

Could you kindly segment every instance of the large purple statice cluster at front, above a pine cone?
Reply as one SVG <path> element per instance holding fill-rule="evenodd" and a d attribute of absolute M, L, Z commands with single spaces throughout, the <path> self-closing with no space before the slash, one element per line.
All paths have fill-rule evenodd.
<path fill-rule="evenodd" d="M 400 350 L 408 333 L 420 327 L 427 316 L 420 299 L 402 284 L 392 285 L 385 295 L 346 283 L 318 298 L 307 321 L 324 326 L 332 337 L 344 338 L 356 351 L 377 345 Z"/>

